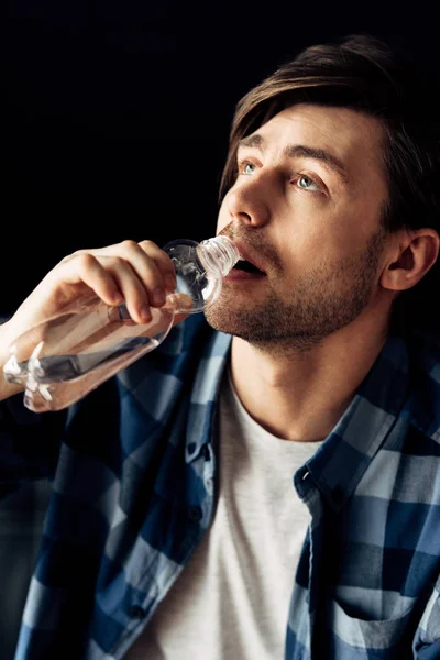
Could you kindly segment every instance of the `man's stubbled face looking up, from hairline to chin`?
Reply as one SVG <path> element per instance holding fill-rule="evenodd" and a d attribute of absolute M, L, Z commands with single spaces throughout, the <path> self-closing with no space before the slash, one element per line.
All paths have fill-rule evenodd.
<path fill-rule="evenodd" d="M 307 349 L 374 304 L 383 138 L 374 118 L 299 105 L 243 141 L 217 231 L 264 275 L 226 278 L 206 312 L 212 327 L 261 346 Z"/>

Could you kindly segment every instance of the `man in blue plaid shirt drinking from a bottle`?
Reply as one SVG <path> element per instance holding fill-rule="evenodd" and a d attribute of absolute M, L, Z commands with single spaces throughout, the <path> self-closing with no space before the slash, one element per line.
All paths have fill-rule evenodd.
<path fill-rule="evenodd" d="M 209 324 L 67 411 L 6 402 L 1 479 L 53 479 L 19 660 L 440 657 L 440 350 L 405 306 L 440 242 L 422 90 L 369 37 L 280 68 L 234 118 L 218 232 L 248 264 Z M 148 241 L 80 251 L 2 345 L 90 289 L 142 322 L 173 277 Z"/>

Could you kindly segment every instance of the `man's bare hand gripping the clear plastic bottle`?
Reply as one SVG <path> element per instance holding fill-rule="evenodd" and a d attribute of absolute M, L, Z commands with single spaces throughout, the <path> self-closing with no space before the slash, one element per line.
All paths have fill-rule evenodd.
<path fill-rule="evenodd" d="M 125 302 L 133 321 L 151 320 L 151 307 L 162 307 L 176 288 L 169 256 L 152 241 L 122 241 L 97 250 L 78 250 L 63 258 L 8 321 L 18 337 L 50 318 L 73 311 L 78 301 L 96 298 L 106 305 Z M 177 315 L 174 324 L 187 315 Z"/>

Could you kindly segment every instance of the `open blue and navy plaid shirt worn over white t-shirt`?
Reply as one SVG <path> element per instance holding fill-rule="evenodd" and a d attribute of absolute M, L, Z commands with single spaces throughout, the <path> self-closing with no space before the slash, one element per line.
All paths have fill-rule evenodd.
<path fill-rule="evenodd" d="M 16 660 L 120 659 L 151 619 L 212 519 L 230 340 L 198 315 L 67 411 L 4 403 L 3 492 L 53 481 Z M 439 382 L 438 346 L 389 337 L 293 475 L 286 660 L 440 658 Z"/>

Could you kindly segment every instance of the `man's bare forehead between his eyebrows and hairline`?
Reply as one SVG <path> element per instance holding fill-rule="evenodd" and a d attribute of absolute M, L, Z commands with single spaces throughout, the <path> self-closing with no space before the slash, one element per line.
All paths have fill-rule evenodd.
<path fill-rule="evenodd" d="M 332 153 L 354 176 L 365 168 L 383 170 L 385 129 L 377 118 L 356 110 L 300 103 L 273 117 L 256 133 L 274 154 L 287 144 L 304 144 Z"/>

